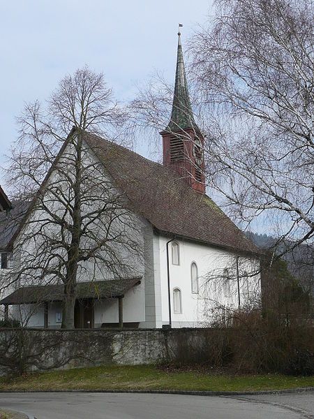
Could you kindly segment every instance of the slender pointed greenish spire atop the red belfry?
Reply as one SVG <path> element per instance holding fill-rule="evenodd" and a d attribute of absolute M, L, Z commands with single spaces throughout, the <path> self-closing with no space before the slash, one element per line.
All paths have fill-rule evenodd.
<path fill-rule="evenodd" d="M 194 121 L 192 105 L 190 104 L 190 95 L 188 94 L 188 82 L 186 81 L 186 69 L 184 67 L 184 56 L 181 45 L 180 27 L 182 26 L 182 24 L 179 24 L 174 97 L 172 102 L 171 118 L 166 131 L 179 131 L 179 129 L 186 128 L 193 128 L 200 131 Z"/>

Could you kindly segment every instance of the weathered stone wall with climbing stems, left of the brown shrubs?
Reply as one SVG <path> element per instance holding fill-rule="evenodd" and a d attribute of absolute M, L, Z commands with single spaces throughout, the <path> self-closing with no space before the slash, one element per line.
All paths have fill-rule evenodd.
<path fill-rule="evenodd" d="M 208 329 L 0 330 L 0 374 L 171 360 L 181 342 L 202 346 Z"/>

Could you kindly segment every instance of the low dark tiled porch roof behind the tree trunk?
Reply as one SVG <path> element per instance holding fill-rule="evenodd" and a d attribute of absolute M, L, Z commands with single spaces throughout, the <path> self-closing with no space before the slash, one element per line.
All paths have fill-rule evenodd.
<path fill-rule="evenodd" d="M 114 279 L 111 281 L 79 282 L 77 299 L 117 298 L 140 283 L 141 278 Z M 0 304 L 31 304 L 44 301 L 62 301 L 63 285 L 27 286 L 19 288 L 0 301 Z"/>

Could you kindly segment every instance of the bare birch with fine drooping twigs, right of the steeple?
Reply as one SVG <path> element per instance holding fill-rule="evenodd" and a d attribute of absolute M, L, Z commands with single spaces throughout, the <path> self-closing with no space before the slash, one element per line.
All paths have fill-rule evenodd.
<path fill-rule="evenodd" d="M 314 234 L 313 2 L 216 6 L 214 23 L 190 43 L 208 182 L 239 219 L 267 214 L 268 226 L 296 247 Z"/>

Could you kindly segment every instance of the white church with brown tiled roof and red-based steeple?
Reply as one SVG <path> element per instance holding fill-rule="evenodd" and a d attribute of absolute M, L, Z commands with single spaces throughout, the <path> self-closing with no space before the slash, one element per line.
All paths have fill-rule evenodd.
<path fill-rule="evenodd" d="M 77 279 L 75 328 L 206 327 L 260 295 L 259 249 L 205 191 L 204 137 L 193 119 L 180 36 L 172 115 L 160 135 L 163 164 L 84 136 L 89 159 L 101 163 L 132 208 L 143 257 L 132 277 L 87 266 Z M 25 221 L 36 216 L 30 206 L 15 230 L 5 235 L 0 226 L 0 281 L 21 263 Z M 60 328 L 62 299 L 61 283 L 17 281 L 3 288 L 0 304 L 4 316 L 27 327 Z"/>

